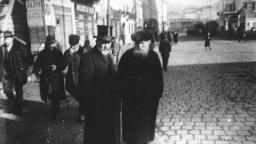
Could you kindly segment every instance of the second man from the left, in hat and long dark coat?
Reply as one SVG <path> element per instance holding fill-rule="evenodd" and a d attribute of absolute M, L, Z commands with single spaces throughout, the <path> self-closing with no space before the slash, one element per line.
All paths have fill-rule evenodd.
<path fill-rule="evenodd" d="M 46 37 L 45 47 L 37 56 L 30 82 L 34 82 L 40 72 L 40 96 L 45 102 L 52 101 L 52 119 L 58 118 L 59 101 L 66 99 L 64 89 L 65 61 L 62 52 L 56 48 L 56 40 L 52 35 Z"/>

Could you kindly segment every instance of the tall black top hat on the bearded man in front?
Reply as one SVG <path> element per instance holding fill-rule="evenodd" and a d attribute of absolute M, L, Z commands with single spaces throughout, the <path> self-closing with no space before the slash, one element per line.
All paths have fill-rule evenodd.
<path fill-rule="evenodd" d="M 105 42 L 110 42 L 112 40 L 112 29 L 113 26 L 107 26 L 107 25 L 98 25 L 98 39 L 104 40 Z"/>

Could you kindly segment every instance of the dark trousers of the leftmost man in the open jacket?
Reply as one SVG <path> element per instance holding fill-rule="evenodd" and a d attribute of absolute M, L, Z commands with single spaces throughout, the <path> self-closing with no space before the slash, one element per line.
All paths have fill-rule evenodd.
<path fill-rule="evenodd" d="M 16 91 L 16 96 L 12 91 L 13 86 Z M 10 104 L 22 110 L 23 84 L 18 82 L 13 82 L 11 80 L 3 78 L 3 88 L 4 88 L 4 93 L 6 94 L 6 97 L 8 98 L 8 101 L 10 102 Z"/>

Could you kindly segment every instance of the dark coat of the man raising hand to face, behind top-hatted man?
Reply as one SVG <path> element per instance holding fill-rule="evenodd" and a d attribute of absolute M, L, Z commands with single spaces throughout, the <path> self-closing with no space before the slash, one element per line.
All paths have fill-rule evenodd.
<path fill-rule="evenodd" d="M 66 66 L 69 66 L 66 75 L 66 91 L 79 101 L 79 85 L 78 85 L 78 68 L 80 59 L 85 50 L 82 46 L 79 46 L 78 51 L 70 54 L 70 48 L 64 53 Z"/>

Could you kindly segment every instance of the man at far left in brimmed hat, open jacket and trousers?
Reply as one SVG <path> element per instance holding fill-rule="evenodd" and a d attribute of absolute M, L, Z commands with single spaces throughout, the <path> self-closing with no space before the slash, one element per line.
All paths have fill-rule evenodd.
<path fill-rule="evenodd" d="M 27 83 L 28 53 L 24 46 L 14 41 L 11 31 L 4 32 L 5 43 L 0 50 L 0 82 L 8 98 L 12 114 L 23 112 L 23 85 Z M 14 86 L 15 95 L 12 91 Z"/>

